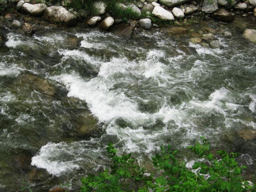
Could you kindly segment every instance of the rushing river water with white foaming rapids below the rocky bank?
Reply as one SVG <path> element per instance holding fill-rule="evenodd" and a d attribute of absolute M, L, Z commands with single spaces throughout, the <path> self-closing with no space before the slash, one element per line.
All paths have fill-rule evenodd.
<path fill-rule="evenodd" d="M 182 150 L 200 136 L 241 152 L 253 179 L 256 140 L 238 132 L 256 129 L 256 44 L 242 37 L 256 24 L 187 28 L 132 40 L 88 28 L 10 30 L 0 46 L 0 191 L 22 182 L 77 191 L 82 175 L 108 164 L 109 141 L 143 164 L 160 145 Z M 192 44 L 192 30 L 215 30 L 220 48 Z M 70 36 L 81 45 L 67 44 Z"/>

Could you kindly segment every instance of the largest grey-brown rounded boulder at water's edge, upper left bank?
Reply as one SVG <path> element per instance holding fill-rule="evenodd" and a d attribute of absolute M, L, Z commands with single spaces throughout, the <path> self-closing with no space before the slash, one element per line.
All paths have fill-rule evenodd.
<path fill-rule="evenodd" d="M 44 19 L 64 26 L 74 26 L 76 16 L 62 6 L 51 6 L 44 11 Z"/>

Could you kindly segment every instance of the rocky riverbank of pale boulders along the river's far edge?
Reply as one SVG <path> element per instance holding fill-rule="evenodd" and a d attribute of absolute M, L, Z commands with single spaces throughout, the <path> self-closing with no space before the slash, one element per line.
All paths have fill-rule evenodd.
<path fill-rule="evenodd" d="M 241 0 L 240 2 L 236 0 L 160 0 L 160 2 L 140 0 L 126 4 L 116 2 L 116 9 L 120 12 L 130 12 L 130 18 L 133 17 L 133 19 L 112 16 L 111 10 L 107 12 L 109 9 L 104 1 L 92 3 L 92 9 L 96 15 L 88 15 L 86 10 L 69 8 L 70 3 L 71 1 L 62 1 L 61 4 L 46 1 L 40 4 L 38 1 L 13 1 L 12 6 L 15 10 L 12 10 L 10 14 L 5 14 L 1 23 L 5 20 L 8 27 L 17 28 L 20 32 L 30 35 L 41 29 L 79 25 L 98 27 L 115 32 L 124 38 L 132 38 L 140 30 L 170 25 L 184 26 L 198 19 L 233 22 L 235 16 L 240 15 L 249 18 L 252 22 L 256 21 L 255 0 Z M 0 4 L 2 7 L 8 6 L 5 0 L 1 0 Z M 256 31 L 245 30 L 244 37 L 256 42 Z M 200 40 L 194 38 L 192 42 L 197 43 Z"/>

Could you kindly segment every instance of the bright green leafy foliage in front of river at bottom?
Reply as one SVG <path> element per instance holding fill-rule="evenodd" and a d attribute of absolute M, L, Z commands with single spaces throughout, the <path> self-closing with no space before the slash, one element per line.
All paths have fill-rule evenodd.
<path fill-rule="evenodd" d="M 242 169 L 235 158 L 237 153 L 224 150 L 210 153 L 210 143 L 204 137 L 202 142 L 188 147 L 200 161 L 192 169 L 177 157 L 177 150 L 171 146 L 161 147 L 159 154 L 152 157 L 156 171 L 146 176 L 131 154 L 118 156 L 113 144 L 107 151 L 112 159 L 110 170 L 82 178 L 81 192 L 246 192 L 255 191 L 241 176 Z M 129 182 L 131 181 L 131 182 Z M 133 188 L 135 187 L 135 188 Z"/>

